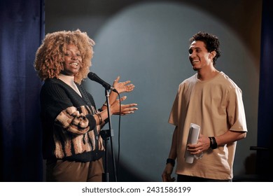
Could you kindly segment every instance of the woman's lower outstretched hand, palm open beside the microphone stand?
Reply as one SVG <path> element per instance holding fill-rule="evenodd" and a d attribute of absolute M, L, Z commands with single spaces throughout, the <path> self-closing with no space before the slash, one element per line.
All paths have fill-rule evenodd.
<path fill-rule="evenodd" d="M 136 107 L 137 104 L 121 104 L 121 111 L 120 111 L 120 102 L 123 102 L 127 97 L 121 97 L 120 100 L 117 99 L 113 104 L 111 104 L 111 113 L 116 115 L 127 115 L 134 113 L 138 108 Z"/>

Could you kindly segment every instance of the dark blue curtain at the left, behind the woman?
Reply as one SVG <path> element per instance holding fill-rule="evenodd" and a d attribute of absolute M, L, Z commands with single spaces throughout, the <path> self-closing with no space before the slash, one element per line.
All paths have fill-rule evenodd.
<path fill-rule="evenodd" d="M 43 0 L 0 1 L 1 181 L 43 181 L 35 52 L 44 36 Z"/>

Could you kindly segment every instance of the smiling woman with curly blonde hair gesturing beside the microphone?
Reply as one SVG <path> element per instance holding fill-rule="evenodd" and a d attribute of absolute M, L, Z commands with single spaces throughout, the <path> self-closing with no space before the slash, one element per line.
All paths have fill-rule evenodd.
<path fill-rule="evenodd" d="M 47 34 L 36 52 L 34 67 L 41 80 L 41 122 L 46 181 L 102 181 L 104 146 L 100 130 L 107 123 L 107 105 L 96 108 L 81 82 L 87 77 L 93 56 L 92 41 L 85 32 Z M 113 87 L 131 92 L 130 81 Z M 134 113 L 137 104 L 124 104 L 117 93 L 109 95 L 110 115 Z"/>

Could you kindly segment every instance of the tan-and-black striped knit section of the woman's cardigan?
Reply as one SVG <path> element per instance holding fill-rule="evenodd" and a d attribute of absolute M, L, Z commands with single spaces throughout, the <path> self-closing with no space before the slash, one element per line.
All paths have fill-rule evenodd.
<path fill-rule="evenodd" d="M 81 111 L 81 113 L 80 113 Z M 79 109 L 70 107 L 57 116 L 55 123 L 62 126 L 62 132 L 54 132 L 55 156 L 65 158 L 79 153 L 96 150 L 94 130 L 89 131 L 89 121 L 85 117 L 94 113 L 94 108 L 80 106 Z M 99 132 L 100 127 L 97 126 Z M 97 132 L 97 134 L 99 134 Z M 99 140 L 99 151 L 104 151 L 102 138 Z"/>

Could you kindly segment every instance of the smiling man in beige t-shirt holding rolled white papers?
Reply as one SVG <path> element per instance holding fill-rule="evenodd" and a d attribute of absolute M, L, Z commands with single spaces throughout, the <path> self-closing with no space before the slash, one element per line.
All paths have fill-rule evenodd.
<path fill-rule="evenodd" d="M 189 59 L 194 76 L 179 85 L 169 116 L 175 125 L 163 181 L 232 181 L 237 141 L 246 137 L 246 118 L 241 90 L 215 67 L 221 56 L 218 38 L 198 32 L 190 38 Z M 190 123 L 200 125 L 197 144 L 187 144 Z M 192 164 L 185 152 L 202 154 Z"/>

